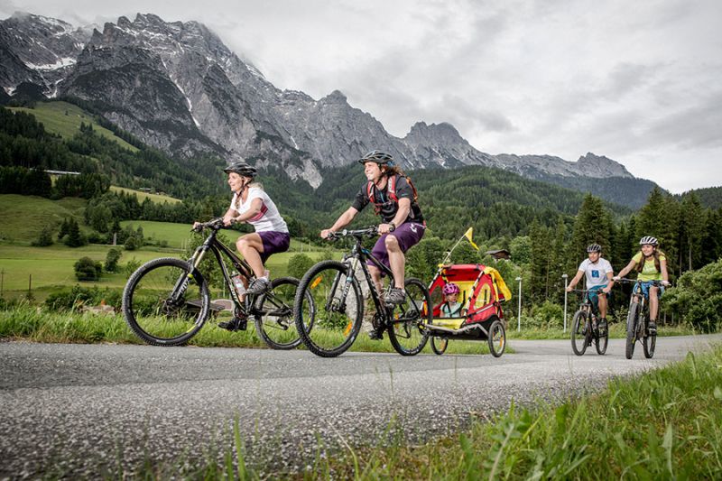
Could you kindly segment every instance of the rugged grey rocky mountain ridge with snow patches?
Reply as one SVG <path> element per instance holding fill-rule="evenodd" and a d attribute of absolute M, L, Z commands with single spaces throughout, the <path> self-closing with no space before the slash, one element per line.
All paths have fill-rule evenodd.
<path fill-rule="evenodd" d="M 108 120 L 166 152 L 214 153 L 276 165 L 314 188 L 322 170 L 355 162 L 375 148 L 412 169 L 483 165 L 530 178 L 634 179 L 624 165 L 592 153 L 577 162 L 553 155 L 484 153 L 448 123 L 420 121 L 403 138 L 395 137 L 370 113 L 349 105 L 338 89 L 316 100 L 275 88 L 202 23 L 168 23 L 155 14 L 137 14 L 134 21 L 121 16 L 106 23 L 103 32 L 88 33 L 57 22 L 62 21 L 32 14 L 0 21 L 0 52 L 5 51 L 0 63 L 7 60 L 12 70 L 0 77 L 5 92 L 12 94 L 23 79 L 40 82 L 48 96 L 95 102 Z M 28 67 L 39 64 L 23 60 L 15 52 L 19 47 L 3 39 L 43 29 L 62 39 L 43 44 L 43 65 L 56 65 L 82 49 L 75 61 L 41 75 Z M 49 63 L 53 59 L 55 64 Z"/>

